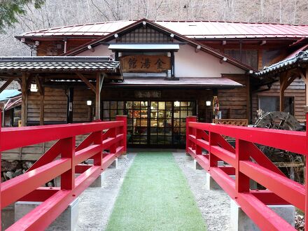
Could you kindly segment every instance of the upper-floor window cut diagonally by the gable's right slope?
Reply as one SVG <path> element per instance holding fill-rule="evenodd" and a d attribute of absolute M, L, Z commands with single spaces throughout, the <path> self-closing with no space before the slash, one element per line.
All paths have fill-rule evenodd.
<path fill-rule="evenodd" d="M 225 49 L 225 54 L 229 55 L 244 64 L 248 64 L 255 69 L 258 69 L 258 50 L 227 50 Z"/>

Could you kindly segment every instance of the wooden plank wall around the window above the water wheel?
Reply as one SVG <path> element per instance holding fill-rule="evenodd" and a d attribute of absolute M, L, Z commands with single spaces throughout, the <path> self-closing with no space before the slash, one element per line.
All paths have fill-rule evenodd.
<path fill-rule="evenodd" d="M 252 94 L 252 114 L 253 119 L 257 116 L 258 97 L 279 97 L 279 82 L 272 85 L 271 90 Z M 304 106 L 306 104 L 306 94 L 304 81 L 295 79 L 293 83 L 285 90 L 285 97 L 294 97 L 294 113 L 295 118 L 301 123 L 306 121 L 304 114 Z"/>

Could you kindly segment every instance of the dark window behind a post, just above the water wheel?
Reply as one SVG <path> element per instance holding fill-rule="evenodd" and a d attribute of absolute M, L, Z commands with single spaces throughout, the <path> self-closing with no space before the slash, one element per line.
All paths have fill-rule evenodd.
<path fill-rule="evenodd" d="M 258 109 L 265 113 L 270 111 L 279 111 L 279 97 L 259 97 Z M 294 97 L 284 97 L 284 111 L 294 115 Z"/>

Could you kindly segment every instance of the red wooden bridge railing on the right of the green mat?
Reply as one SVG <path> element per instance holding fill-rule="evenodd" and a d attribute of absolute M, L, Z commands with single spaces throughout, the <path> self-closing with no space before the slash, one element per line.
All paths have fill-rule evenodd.
<path fill-rule="evenodd" d="M 235 138 L 235 148 L 222 136 Z M 293 204 L 307 214 L 307 183 L 302 186 L 288 179 L 255 144 L 307 155 L 307 142 L 306 132 L 197 123 L 194 116 L 186 118 L 186 152 L 262 230 L 295 230 L 267 205 Z M 218 160 L 230 167 L 218 166 Z M 307 168 L 305 176 L 307 182 Z M 267 190 L 251 190 L 249 179 Z"/>

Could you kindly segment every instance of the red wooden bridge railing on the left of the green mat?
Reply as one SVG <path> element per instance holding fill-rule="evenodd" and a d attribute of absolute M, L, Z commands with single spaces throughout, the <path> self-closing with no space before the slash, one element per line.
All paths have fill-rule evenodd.
<path fill-rule="evenodd" d="M 113 160 L 126 153 L 126 116 L 117 116 L 116 120 L 0 128 L 0 151 L 58 140 L 25 174 L 0 184 L 1 209 L 16 201 L 42 202 L 8 230 L 48 228 Z M 76 147 L 80 134 L 89 135 Z M 93 165 L 81 164 L 89 158 L 94 160 Z M 41 187 L 57 176 L 61 177 L 61 187 Z"/>

